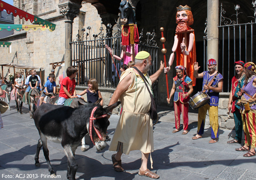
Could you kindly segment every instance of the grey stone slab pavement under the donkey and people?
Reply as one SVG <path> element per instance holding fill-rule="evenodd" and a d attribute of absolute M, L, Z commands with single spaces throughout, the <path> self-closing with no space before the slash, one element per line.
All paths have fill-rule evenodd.
<path fill-rule="evenodd" d="M 26 106 L 26 105 L 24 105 Z M 52 180 L 47 177 L 47 163 L 40 151 L 41 167 L 34 165 L 35 150 L 39 138 L 29 111 L 23 106 L 23 114 L 15 111 L 11 101 L 11 111 L 2 114 L 4 128 L 0 130 L 0 179 L 2 180 Z M 209 144 L 210 129 L 205 129 L 203 138 L 192 140 L 197 131 L 197 114 L 189 112 L 189 133 L 175 134 L 174 111 L 159 108 L 160 120 L 154 126 L 154 152 L 152 171 L 160 175 L 161 180 L 256 180 L 256 157 L 243 157 L 244 152 L 235 151 L 238 144 L 227 144 L 235 132 L 220 129 L 218 143 Z M 113 137 L 119 116 L 112 115 L 108 134 Z M 244 140 L 243 140 L 244 141 Z M 244 143 L 244 142 L 242 142 Z M 109 144 L 109 143 L 108 143 Z M 138 175 L 140 151 L 131 151 L 122 156 L 125 172 L 115 172 L 112 168 L 108 146 L 101 152 L 87 137 L 87 151 L 76 150 L 76 162 L 79 169 L 78 180 L 147 180 Z M 67 157 L 60 144 L 48 141 L 49 158 L 58 177 L 65 180 Z M 148 167 L 150 165 L 148 164 Z"/>

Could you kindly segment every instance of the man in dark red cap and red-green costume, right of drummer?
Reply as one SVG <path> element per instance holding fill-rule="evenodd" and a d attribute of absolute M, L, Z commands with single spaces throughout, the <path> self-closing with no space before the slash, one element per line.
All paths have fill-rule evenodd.
<path fill-rule="evenodd" d="M 233 143 L 241 143 L 242 140 L 242 133 L 243 133 L 243 123 L 242 117 L 240 113 L 240 106 L 237 104 L 238 101 L 241 101 L 241 95 L 239 96 L 238 93 L 241 92 L 241 89 L 244 85 L 244 61 L 236 61 L 234 63 L 236 76 L 234 76 L 231 80 L 232 89 L 230 91 L 230 97 L 228 101 L 228 112 L 233 113 L 234 120 L 235 120 L 235 129 L 236 129 L 236 137 L 233 140 L 227 141 L 229 144 Z"/>

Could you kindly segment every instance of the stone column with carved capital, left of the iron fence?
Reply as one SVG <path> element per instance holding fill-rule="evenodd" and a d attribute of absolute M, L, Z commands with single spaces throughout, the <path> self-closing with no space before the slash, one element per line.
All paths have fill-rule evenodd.
<path fill-rule="evenodd" d="M 73 3 L 71 1 L 66 1 L 58 5 L 60 14 L 65 17 L 65 70 L 72 65 L 72 31 L 73 31 L 73 20 L 77 14 L 79 14 L 81 4 Z"/>

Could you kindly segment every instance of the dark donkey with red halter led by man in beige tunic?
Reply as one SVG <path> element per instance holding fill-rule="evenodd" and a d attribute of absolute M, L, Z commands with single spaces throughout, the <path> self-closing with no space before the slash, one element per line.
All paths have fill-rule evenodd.
<path fill-rule="evenodd" d="M 39 152 L 43 146 L 44 157 L 48 164 L 51 175 L 55 172 L 49 160 L 47 139 L 61 143 L 67 156 L 67 179 L 75 180 L 78 164 L 74 158 L 77 147 L 85 134 L 89 133 L 97 151 L 101 151 L 110 140 L 107 135 L 109 120 L 107 113 L 118 106 L 117 102 L 103 108 L 96 104 L 87 104 L 74 109 L 69 106 L 42 104 L 34 114 L 35 126 L 38 129 L 40 139 L 38 140 L 35 154 L 35 166 L 40 166 Z"/>

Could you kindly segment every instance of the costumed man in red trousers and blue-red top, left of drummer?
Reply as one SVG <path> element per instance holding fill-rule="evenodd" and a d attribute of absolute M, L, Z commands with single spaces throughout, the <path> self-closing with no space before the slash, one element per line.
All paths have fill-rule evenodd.
<path fill-rule="evenodd" d="M 170 99 L 174 94 L 174 111 L 175 111 L 175 130 L 172 133 L 180 131 L 180 114 L 183 116 L 183 132 L 182 134 L 188 133 L 188 123 L 189 123 L 189 95 L 193 92 L 192 80 L 186 74 L 186 67 L 176 66 L 175 67 L 177 76 L 173 78 L 172 90 L 170 93 L 170 98 L 167 98 L 167 102 L 170 103 Z M 184 76 L 183 76 L 184 71 Z M 184 79 L 184 80 L 183 80 Z"/>

